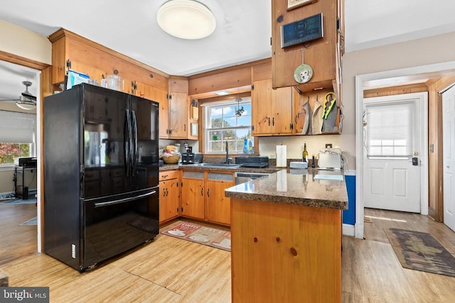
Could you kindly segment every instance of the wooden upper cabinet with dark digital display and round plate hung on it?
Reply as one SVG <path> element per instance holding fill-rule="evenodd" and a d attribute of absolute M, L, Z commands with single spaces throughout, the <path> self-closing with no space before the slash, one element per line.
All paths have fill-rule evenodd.
<path fill-rule="evenodd" d="M 339 14 L 344 0 L 319 0 L 311 4 L 287 10 L 288 1 L 272 0 L 272 87 L 298 85 L 302 92 L 313 89 L 333 89 L 339 82 L 341 57 L 341 22 Z M 281 46 L 283 25 L 299 21 L 318 13 L 323 15 L 323 38 L 306 43 Z M 294 79 L 294 71 L 302 63 L 309 65 L 314 75 L 305 84 Z"/>

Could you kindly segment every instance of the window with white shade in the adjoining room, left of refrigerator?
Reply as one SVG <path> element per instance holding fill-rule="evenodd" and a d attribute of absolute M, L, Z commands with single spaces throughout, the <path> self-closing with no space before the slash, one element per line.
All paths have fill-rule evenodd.
<path fill-rule="evenodd" d="M 35 157 L 36 114 L 0 111 L 0 166 L 15 158 Z"/>

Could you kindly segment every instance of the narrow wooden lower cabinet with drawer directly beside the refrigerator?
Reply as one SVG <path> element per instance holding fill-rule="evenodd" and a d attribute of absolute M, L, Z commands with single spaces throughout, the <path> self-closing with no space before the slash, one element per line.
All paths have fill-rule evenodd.
<path fill-rule="evenodd" d="M 159 173 L 159 223 L 175 219 L 180 214 L 180 180 L 178 171 Z"/>

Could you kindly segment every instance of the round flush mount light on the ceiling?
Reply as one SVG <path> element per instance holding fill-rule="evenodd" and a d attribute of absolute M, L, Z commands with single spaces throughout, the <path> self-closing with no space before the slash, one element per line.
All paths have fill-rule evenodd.
<path fill-rule="evenodd" d="M 156 20 L 163 31 L 182 39 L 205 38 L 216 27 L 210 9 L 193 0 L 167 1 L 159 8 Z"/>

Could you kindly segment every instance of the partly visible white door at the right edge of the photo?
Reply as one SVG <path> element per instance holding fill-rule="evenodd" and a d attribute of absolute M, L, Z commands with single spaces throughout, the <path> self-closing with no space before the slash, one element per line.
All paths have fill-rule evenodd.
<path fill-rule="evenodd" d="M 444 224 L 455 231 L 455 87 L 442 94 Z"/>

